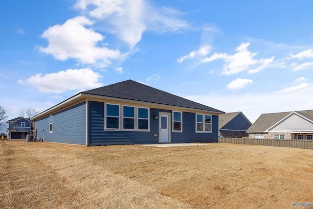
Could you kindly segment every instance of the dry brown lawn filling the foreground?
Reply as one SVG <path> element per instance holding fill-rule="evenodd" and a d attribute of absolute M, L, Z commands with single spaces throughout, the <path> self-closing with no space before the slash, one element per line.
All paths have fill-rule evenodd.
<path fill-rule="evenodd" d="M 4 209 L 292 209 L 294 202 L 313 202 L 313 150 L 0 141 Z"/>

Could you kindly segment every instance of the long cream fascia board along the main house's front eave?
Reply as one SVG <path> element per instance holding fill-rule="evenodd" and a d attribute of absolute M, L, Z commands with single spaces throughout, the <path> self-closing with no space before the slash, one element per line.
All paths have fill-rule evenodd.
<path fill-rule="evenodd" d="M 147 104 L 147 105 L 155 105 L 160 107 L 168 107 L 168 108 L 180 108 L 184 110 L 190 110 L 194 112 L 207 112 L 207 113 L 214 113 L 218 115 L 222 115 L 224 113 L 215 112 L 215 111 L 208 111 L 208 110 L 201 110 L 201 109 L 194 109 L 194 108 L 188 108 L 188 107 L 180 107 L 180 106 L 174 106 L 174 105 L 165 105 L 165 104 L 158 104 L 153 102 L 144 102 L 140 100 L 133 100 L 133 99 L 123 99 L 123 98 L 117 98 L 117 97 L 111 97 L 111 96 L 101 96 L 101 95 L 95 95 L 95 94 L 88 94 L 88 93 L 82 93 L 82 96 L 86 96 L 88 98 L 99 98 L 99 99 L 110 99 L 110 100 L 116 100 L 116 101 L 124 101 L 124 102 L 133 102 L 133 103 L 141 103 L 141 104 Z"/>

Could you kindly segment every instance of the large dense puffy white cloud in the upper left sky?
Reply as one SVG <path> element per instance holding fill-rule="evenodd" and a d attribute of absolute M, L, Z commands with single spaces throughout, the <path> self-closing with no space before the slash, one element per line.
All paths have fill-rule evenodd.
<path fill-rule="evenodd" d="M 97 46 L 104 36 L 84 27 L 92 24 L 92 21 L 80 16 L 69 19 L 62 25 L 51 26 L 41 36 L 48 40 L 48 46 L 39 46 L 38 49 L 52 54 L 58 60 L 73 58 L 82 64 L 92 64 L 99 68 L 110 65 L 112 59 L 125 58 L 127 54 L 120 54 L 118 50 Z"/>

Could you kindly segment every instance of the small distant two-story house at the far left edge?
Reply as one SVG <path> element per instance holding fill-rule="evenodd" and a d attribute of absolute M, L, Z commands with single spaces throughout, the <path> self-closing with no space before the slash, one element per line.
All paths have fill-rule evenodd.
<path fill-rule="evenodd" d="M 33 132 L 33 122 L 27 118 L 17 117 L 6 121 L 6 123 L 8 125 L 6 131 L 8 139 L 22 139 Z"/>

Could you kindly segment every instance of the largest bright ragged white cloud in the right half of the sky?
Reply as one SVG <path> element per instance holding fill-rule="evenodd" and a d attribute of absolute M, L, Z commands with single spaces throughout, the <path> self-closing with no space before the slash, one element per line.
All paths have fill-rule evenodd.
<path fill-rule="evenodd" d="M 274 57 L 267 59 L 261 58 L 259 60 L 253 59 L 253 57 L 257 55 L 258 52 L 250 52 L 247 49 L 249 45 L 250 43 L 242 43 L 235 49 L 237 52 L 233 55 L 215 52 L 212 56 L 205 57 L 202 60 L 202 63 L 208 63 L 214 60 L 222 59 L 225 62 L 223 65 L 222 75 L 231 75 L 244 70 L 249 70 L 251 67 L 258 66 L 256 69 L 248 71 L 249 73 L 255 73 L 268 67 L 268 65 L 273 62 Z"/>

